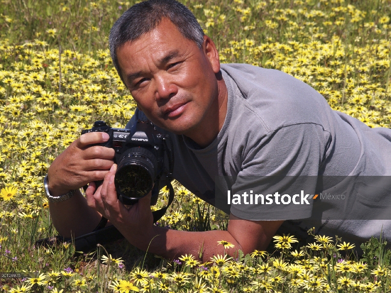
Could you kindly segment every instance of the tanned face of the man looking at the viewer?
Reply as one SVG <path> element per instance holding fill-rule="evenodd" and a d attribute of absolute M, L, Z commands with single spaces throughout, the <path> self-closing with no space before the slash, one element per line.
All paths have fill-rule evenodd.
<path fill-rule="evenodd" d="M 117 49 L 126 86 L 156 126 L 191 136 L 218 116 L 218 56 L 217 66 L 206 47 L 204 42 L 198 48 L 163 19 L 151 32 Z"/>

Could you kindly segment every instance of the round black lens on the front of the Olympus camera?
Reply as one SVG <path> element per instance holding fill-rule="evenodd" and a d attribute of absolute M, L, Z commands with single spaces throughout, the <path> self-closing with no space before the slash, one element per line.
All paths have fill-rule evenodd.
<path fill-rule="evenodd" d="M 131 147 L 124 152 L 114 184 L 125 205 L 133 204 L 152 190 L 156 167 L 156 157 L 145 147 Z"/>

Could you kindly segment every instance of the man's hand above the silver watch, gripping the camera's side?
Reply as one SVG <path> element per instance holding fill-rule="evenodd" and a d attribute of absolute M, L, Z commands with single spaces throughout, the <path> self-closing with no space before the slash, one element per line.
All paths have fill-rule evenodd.
<path fill-rule="evenodd" d="M 60 154 L 48 169 L 49 190 L 59 196 L 91 181 L 102 180 L 113 165 L 114 149 L 91 146 L 109 140 L 106 132 L 81 135 Z"/>

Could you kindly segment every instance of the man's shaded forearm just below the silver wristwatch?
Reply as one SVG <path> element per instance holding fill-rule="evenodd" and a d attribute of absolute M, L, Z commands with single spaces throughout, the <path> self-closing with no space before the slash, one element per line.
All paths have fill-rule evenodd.
<path fill-rule="evenodd" d="M 79 190 L 65 201 L 50 203 L 49 210 L 54 227 L 65 238 L 91 232 L 102 218 L 99 212 L 88 207 Z"/>

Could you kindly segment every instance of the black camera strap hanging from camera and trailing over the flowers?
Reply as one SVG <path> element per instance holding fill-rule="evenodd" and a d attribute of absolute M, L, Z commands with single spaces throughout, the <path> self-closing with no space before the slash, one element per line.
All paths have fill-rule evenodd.
<path fill-rule="evenodd" d="M 167 209 L 174 201 L 174 188 L 171 182 L 168 182 L 167 187 L 169 188 L 169 198 L 167 206 L 164 208 L 152 211 L 153 223 L 156 223 L 164 216 Z M 102 222 L 107 223 L 107 220 L 102 218 Z M 106 228 L 99 229 L 99 226 L 92 232 L 81 235 L 73 239 L 75 245 L 75 251 L 87 252 L 96 248 L 96 245 L 99 243 L 101 245 L 106 245 L 110 242 L 117 241 L 125 238 L 120 231 L 117 230 L 114 226 L 109 226 Z M 38 240 L 35 244 L 37 246 L 49 247 L 53 245 L 58 245 L 60 243 L 72 243 L 72 239 L 64 238 L 62 236 L 48 237 L 45 239 Z"/>

